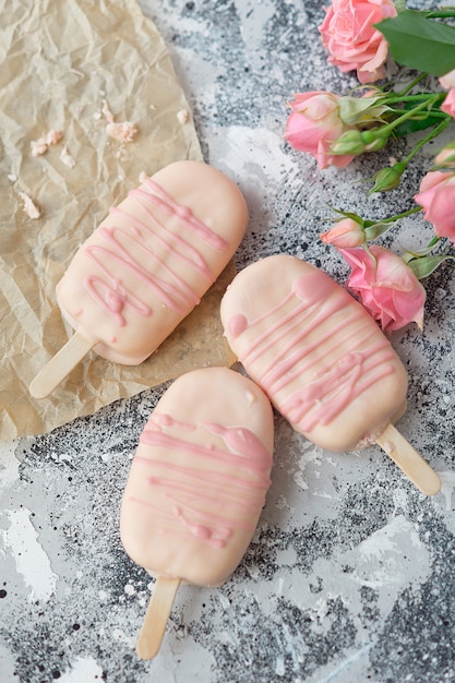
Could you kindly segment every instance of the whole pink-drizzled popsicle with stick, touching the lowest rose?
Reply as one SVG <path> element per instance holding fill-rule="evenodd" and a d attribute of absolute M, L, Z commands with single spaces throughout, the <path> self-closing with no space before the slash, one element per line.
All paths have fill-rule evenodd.
<path fill-rule="evenodd" d="M 366 309 L 287 254 L 241 271 L 221 299 L 227 342 L 298 432 L 333 452 L 379 443 L 424 493 L 438 475 L 398 433 L 408 378 Z"/>

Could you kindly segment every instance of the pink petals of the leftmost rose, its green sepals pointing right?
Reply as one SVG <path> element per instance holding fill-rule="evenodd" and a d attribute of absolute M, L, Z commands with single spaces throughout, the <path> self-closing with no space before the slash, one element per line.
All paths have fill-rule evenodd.
<path fill-rule="evenodd" d="M 319 168 L 337 166 L 345 168 L 352 155 L 333 155 L 331 145 L 343 133 L 354 127 L 346 125 L 339 118 L 337 95 L 323 91 L 298 93 L 289 103 L 291 113 L 285 130 L 285 140 L 299 152 L 308 152 Z"/>

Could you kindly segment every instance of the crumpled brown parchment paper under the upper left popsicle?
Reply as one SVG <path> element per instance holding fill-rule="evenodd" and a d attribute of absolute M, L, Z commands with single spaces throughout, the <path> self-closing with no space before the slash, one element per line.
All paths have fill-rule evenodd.
<path fill-rule="evenodd" d="M 227 364 L 218 304 L 234 265 L 147 361 L 118 366 L 92 351 L 33 399 L 29 382 L 72 334 L 55 287 L 79 244 L 142 172 L 202 155 L 166 46 L 133 0 L 12 1 L 0 36 L 0 439 L 12 440 Z M 112 119 L 137 128 L 131 142 L 108 135 Z M 62 139 L 37 155 L 32 143 L 52 130 Z"/>

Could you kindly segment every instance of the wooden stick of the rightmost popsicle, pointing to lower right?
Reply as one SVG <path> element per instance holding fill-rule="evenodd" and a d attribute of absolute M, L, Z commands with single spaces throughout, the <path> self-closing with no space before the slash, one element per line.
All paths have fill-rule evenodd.
<path fill-rule="evenodd" d="M 436 472 L 393 424 L 387 424 L 376 443 L 422 493 L 434 495 L 439 492 L 441 480 Z"/>

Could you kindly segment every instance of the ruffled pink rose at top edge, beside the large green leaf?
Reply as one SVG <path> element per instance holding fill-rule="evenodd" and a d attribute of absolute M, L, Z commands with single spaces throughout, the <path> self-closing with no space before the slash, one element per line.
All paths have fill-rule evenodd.
<path fill-rule="evenodd" d="M 357 70 L 360 83 L 383 79 L 388 45 L 373 24 L 396 16 L 392 0 L 333 0 L 325 12 L 319 29 L 331 64 Z"/>

